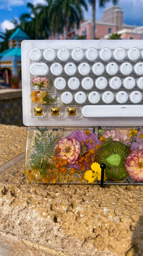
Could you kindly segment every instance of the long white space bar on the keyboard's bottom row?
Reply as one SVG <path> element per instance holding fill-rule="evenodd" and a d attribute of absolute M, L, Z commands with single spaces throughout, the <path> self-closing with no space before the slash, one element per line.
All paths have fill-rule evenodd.
<path fill-rule="evenodd" d="M 143 105 L 85 105 L 84 117 L 143 117 Z"/>

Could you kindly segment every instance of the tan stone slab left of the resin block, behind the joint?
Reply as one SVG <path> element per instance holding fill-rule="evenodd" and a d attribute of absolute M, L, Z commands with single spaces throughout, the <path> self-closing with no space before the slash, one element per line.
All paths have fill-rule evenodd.
<path fill-rule="evenodd" d="M 26 127 L 0 125 L 0 166 L 25 152 Z"/>

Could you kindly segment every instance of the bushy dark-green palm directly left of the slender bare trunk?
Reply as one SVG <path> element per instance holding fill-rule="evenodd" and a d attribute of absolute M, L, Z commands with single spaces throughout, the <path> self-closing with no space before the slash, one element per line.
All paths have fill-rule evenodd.
<path fill-rule="evenodd" d="M 53 32 L 62 32 L 64 39 L 67 39 L 68 30 L 75 24 L 79 27 L 84 17 L 83 9 L 87 10 L 86 0 L 55 0 L 50 16 L 53 21 Z"/>

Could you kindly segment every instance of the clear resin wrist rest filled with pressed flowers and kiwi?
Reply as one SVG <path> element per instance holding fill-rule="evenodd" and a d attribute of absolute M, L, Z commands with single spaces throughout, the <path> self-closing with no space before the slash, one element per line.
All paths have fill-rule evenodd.
<path fill-rule="evenodd" d="M 143 128 L 28 127 L 25 177 L 31 183 L 143 184 Z"/>

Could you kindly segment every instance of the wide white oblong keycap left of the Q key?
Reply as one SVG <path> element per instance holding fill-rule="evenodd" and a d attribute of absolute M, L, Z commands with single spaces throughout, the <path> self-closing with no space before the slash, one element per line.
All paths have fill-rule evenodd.
<path fill-rule="evenodd" d="M 49 68 L 44 62 L 33 62 L 29 69 L 34 76 L 46 76 L 49 72 Z"/>

